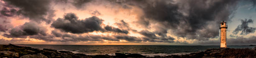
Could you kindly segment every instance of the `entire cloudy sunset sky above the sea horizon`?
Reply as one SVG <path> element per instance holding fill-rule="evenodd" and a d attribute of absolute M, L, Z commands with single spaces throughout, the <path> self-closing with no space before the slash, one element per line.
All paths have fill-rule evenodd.
<path fill-rule="evenodd" d="M 256 0 L 0 0 L 0 44 L 256 45 Z"/>

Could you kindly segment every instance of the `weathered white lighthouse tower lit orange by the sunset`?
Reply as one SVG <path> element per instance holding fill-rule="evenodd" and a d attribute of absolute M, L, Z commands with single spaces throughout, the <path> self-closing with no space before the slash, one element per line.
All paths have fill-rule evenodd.
<path fill-rule="evenodd" d="M 225 21 L 220 23 L 220 48 L 227 48 L 226 33 L 228 25 Z"/>

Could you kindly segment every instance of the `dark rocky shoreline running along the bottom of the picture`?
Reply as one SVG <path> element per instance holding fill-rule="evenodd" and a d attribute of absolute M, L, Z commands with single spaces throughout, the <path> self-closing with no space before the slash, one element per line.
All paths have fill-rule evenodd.
<path fill-rule="evenodd" d="M 57 51 L 54 49 L 40 50 L 27 46 L 8 44 L 0 45 L 0 58 L 256 58 L 256 47 L 253 49 L 207 49 L 186 55 L 146 57 L 137 53 L 128 55 L 115 53 L 115 56 L 85 55 L 70 51 Z"/>

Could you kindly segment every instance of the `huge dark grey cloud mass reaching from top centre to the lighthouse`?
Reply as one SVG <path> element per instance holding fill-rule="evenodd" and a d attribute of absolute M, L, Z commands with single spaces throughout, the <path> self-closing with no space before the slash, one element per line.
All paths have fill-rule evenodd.
<path fill-rule="evenodd" d="M 186 2 L 184 2 L 186 1 Z M 139 23 L 144 26 L 159 23 L 165 34 L 171 29 L 174 35 L 187 39 L 208 40 L 219 35 L 218 23 L 227 21 L 236 9 L 236 0 L 125 0 L 120 5 L 143 9 Z M 154 27 L 151 27 L 154 28 Z"/>

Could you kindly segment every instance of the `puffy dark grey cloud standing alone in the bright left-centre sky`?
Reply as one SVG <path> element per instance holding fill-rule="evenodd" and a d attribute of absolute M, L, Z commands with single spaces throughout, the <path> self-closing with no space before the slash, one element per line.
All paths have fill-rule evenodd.
<path fill-rule="evenodd" d="M 102 19 L 99 19 L 96 16 L 92 16 L 84 20 L 79 20 L 75 14 L 68 13 L 64 16 L 64 19 L 59 18 L 56 21 L 53 21 L 51 26 L 66 32 L 84 33 L 102 30 L 100 26 L 102 21 Z"/>

